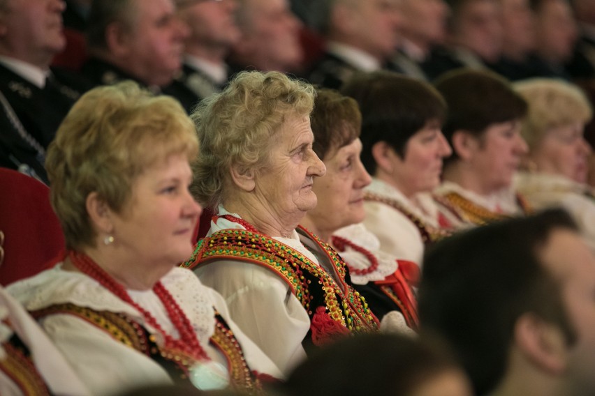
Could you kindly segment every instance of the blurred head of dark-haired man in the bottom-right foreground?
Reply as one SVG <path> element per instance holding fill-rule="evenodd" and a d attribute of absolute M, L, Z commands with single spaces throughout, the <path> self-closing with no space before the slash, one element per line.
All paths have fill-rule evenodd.
<path fill-rule="evenodd" d="M 422 279 L 421 326 L 450 342 L 476 395 L 592 395 L 595 257 L 566 212 L 447 238 Z"/>

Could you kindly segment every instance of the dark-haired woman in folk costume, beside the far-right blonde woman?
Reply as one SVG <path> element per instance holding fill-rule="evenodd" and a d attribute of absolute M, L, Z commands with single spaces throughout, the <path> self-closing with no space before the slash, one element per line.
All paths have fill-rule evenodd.
<path fill-rule="evenodd" d="M 453 70 L 434 85 L 448 105 L 443 131 L 453 147 L 436 194 L 471 224 L 527 213 L 527 202 L 511 188 L 527 153 L 520 135 L 527 103 L 503 77 L 483 70 Z"/>

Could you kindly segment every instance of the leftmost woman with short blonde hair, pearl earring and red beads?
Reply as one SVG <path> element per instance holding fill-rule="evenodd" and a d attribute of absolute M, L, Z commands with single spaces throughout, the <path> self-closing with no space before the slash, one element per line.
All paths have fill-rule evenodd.
<path fill-rule="evenodd" d="M 67 254 L 8 291 L 94 395 L 177 381 L 251 389 L 252 370 L 280 375 L 221 296 L 177 267 L 201 211 L 188 190 L 197 151 L 184 109 L 128 82 L 85 94 L 47 152 Z"/>

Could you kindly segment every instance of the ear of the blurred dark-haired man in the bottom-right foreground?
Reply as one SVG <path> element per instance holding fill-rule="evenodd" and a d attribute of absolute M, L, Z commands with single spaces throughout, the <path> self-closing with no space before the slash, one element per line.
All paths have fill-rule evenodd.
<path fill-rule="evenodd" d="M 514 337 L 517 348 L 531 363 L 555 376 L 564 372 L 568 345 L 558 326 L 526 313 L 517 319 Z"/>

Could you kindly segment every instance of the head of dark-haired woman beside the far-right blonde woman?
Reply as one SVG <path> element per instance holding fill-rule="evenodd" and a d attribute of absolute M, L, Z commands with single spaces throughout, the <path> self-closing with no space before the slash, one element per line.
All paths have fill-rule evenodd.
<path fill-rule="evenodd" d="M 448 106 L 442 130 L 453 147 L 444 179 L 480 195 L 508 188 L 527 152 L 520 135 L 527 103 L 504 77 L 484 70 L 453 70 L 434 86 Z"/>

